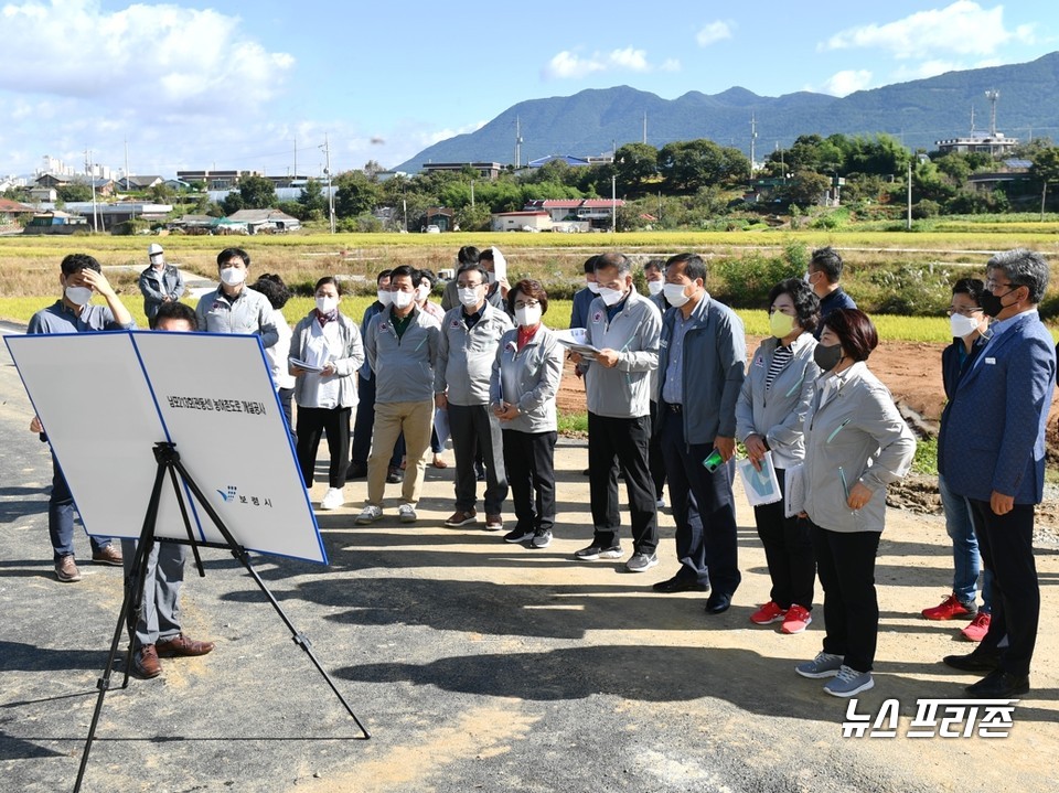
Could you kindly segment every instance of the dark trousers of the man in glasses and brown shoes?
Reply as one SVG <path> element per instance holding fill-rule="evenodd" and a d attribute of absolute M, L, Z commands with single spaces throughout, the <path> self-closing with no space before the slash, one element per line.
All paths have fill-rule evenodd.
<path fill-rule="evenodd" d="M 469 512 L 478 501 L 478 474 L 474 460 L 485 463 L 485 514 L 496 515 L 507 497 L 506 457 L 500 421 L 489 405 L 453 405 L 449 403 L 449 432 L 456 457 L 456 508 Z"/>

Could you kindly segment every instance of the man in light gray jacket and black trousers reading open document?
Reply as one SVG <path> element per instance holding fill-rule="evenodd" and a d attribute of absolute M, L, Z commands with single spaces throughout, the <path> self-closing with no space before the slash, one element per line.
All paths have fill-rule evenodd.
<path fill-rule="evenodd" d="M 599 297 L 589 306 L 588 343 L 599 352 L 595 360 L 570 357 L 585 372 L 588 394 L 589 493 L 592 504 L 592 543 L 575 557 L 586 561 L 619 559 L 618 467 L 625 474 L 633 555 L 630 572 L 659 564 L 657 507 L 648 464 L 651 439 L 651 372 L 659 365 L 662 315 L 632 286 L 632 268 L 622 254 L 603 254 L 596 260 Z"/>

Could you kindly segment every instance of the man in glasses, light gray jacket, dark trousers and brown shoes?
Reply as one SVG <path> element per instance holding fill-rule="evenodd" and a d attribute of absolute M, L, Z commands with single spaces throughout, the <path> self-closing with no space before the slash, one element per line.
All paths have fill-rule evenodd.
<path fill-rule="evenodd" d="M 504 446 L 500 420 L 489 409 L 489 378 L 500 339 L 512 329 L 506 312 L 485 299 L 485 268 L 464 265 L 456 276 L 459 306 L 441 321 L 438 361 L 434 368 L 435 405 L 449 415 L 456 454 L 456 512 L 446 526 L 474 523 L 478 478 L 474 459 L 485 464 L 485 528 L 499 532 L 507 497 Z"/>

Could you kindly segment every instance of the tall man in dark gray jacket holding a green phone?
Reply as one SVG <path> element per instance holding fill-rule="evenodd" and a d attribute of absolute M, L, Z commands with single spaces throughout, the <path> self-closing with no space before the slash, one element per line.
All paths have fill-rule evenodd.
<path fill-rule="evenodd" d="M 719 614 L 731 606 L 740 581 L 731 472 L 725 463 L 736 451 L 746 339 L 735 312 L 706 291 L 706 265 L 695 254 L 665 262 L 664 293 L 676 310 L 666 312 L 662 328 L 659 431 L 681 569 L 654 589 L 705 591 L 712 585 L 706 611 Z"/>

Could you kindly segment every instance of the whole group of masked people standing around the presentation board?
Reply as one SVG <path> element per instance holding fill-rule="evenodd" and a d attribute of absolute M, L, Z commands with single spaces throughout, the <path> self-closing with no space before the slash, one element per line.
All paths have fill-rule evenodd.
<path fill-rule="evenodd" d="M 152 324 L 172 320 L 180 307 L 189 314 L 183 318 L 189 328 L 180 330 L 258 334 L 306 486 L 312 485 L 325 436 L 329 487 L 321 507 L 342 506 L 346 480 L 366 475 L 366 503 L 355 518 L 361 525 L 384 516 L 385 487 L 395 481 L 402 484 L 398 519 L 417 519 L 427 450 L 432 447 L 437 456 L 443 448 L 446 433 L 437 428 L 446 426 L 456 470 L 453 513 L 445 524 L 481 522 L 488 531 L 503 531 L 510 494 L 515 522 L 503 539 L 547 547 L 556 514 L 556 394 L 568 357 L 587 393 L 593 527 L 591 542 L 575 558 L 624 558 L 623 479 L 632 534 L 624 569 L 655 567 L 657 512 L 667 481 L 678 568 L 653 589 L 708 591 L 706 612 L 720 614 L 741 580 L 732 497 L 741 443 L 755 468 L 775 471 L 784 494 L 801 493 L 793 511 L 790 499 L 755 507 L 772 586 L 769 601 L 750 620 L 801 633 L 813 621 L 819 578 L 823 649 L 795 671 L 830 678 L 824 690 L 839 697 L 874 685 L 875 558 L 886 486 L 908 472 L 916 441 L 868 368 L 878 334 L 839 286 L 843 262 L 833 249 L 814 251 L 803 278 L 773 287 L 770 335 L 749 366 L 742 322 L 710 297 L 706 262 L 695 254 L 648 262 L 648 294 L 638 292 L 629 257 L 606 253 L 586 261 L 586 287 L 575 296 L 570 323 L 584 335 L 574 352 L 570 339 L 545 323 L 544 286 L 533 279 L 509 283 L 498 274 L 495 249 L 459 251 L 443 308 L 429 300 L 434 274 L 409 266 L 378 274 L 377 299 L 359 323 L 341 310 L 341 285 L 321 278 L 315 307 L 293 329 L 280 311 L 289 291 L 279 278 L 263 276 L 248 288 L 245 250 L 217 256 L 221 285 L 194 312 L 179 302 L 183 283 L 161 253 L 150 251 L 152 265 L 141 278 Z M 63 299 L 34 317 L 30 332 L 131 328 L 98 265 L 78 259 L 67 266 L 67 260 Z M 955 576 L 953 594 L 923 617 L 990 615 L 977 619 L 981 635 L 967 635 L 981 641 L 974 652 L 944 660 L 960 671 L 987 673 L 969 687 L 975 696 L 1009 696 L 1029 685 L 1040 607 L 1034 505 L 1041 499 L 1044 429 L 1056 378 L 1051 336 L 1036 311 L 1047 285 L 1048 267 L 1039 255 L 999 254 L 990 260 L 985 282 L 962 279 L 954 286 L 949 311 L 954 339 L 943 354 L 949 403 L 939 486 Z M 93 291 L 104 296 L 107 308 L 87 306 Z M 61 329 L 56 318 L 64 320 Z M 405 470 L 397 474 L 402 460 Z M 483 522 L 477 508 L 480 479 Z M 52 501 L 61 518 L 68 494 L 56 486 Z M 63 519 L 51 523 L 56 575 L 76 580 L 71 531 Z M 120 564 L 106 540 L 93 542 L 97 560 Z M 980 558 L 981 609 L 975 606 Z M 170 602 L 172 596 L 160 599 Z M 140 647 L 161 643 L 172 650 L 172 636 L 182 636 L 179 624 L 165 630 L 161 637 L 157 630 L 145 633 L 137 640 Z M 182 639 L 175 646 L 183 654 L 212 649 Z"/>

